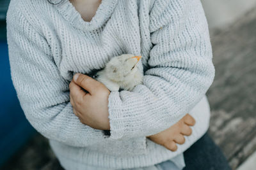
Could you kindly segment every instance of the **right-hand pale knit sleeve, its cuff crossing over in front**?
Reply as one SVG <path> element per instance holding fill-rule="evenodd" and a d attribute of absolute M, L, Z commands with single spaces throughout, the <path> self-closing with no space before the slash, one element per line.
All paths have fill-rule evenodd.
<path fill-rule="evenodd" d="M 207 20 L 200 0 L 156 0 L 149 13 L 152 48 L 143 85 L 111 92 L 111 138 L 150 136 L 189 113 L 214 79 Z"/>

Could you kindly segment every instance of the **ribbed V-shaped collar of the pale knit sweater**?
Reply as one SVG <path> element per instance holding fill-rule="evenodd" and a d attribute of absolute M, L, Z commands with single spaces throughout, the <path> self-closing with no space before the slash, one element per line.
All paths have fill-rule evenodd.
<path fill-rule="evenodd" d="M 90 22 L 84 21 L 81 14 L 68 0 L 63 0 L 61 3 L 55 4 L 54 6 L 66 20 L 78 29 L 93 31 L 101 27 L 109 19 L 115 9 L 117 1 L 118 0 L 102 0 Z"/>

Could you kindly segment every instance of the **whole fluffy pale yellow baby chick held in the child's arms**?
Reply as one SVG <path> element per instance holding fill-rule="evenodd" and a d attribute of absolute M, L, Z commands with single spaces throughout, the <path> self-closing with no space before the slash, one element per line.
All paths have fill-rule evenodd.
<path fill-rule="evenodd" d="M 97 72 L 95 80 L 103 83 L 110 91 L 132 90 L 142 84 L 143 73 L 138 69 L 141 56 L 123 54 L 111 58 L 104 69 Z"/>

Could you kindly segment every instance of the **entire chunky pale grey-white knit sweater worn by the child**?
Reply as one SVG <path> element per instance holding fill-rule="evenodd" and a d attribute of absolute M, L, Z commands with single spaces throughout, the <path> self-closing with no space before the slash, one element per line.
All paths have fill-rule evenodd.
<path fill-rule="evenodd" d="M 22 110 L 66 169 L 154 165 L 184 152 L 207 131 L 205 92 L 214 66 L 200 0 L 102 0 L 90 22 L 68 0 L 12 0 L 6 20 Z M 123 53 L 142 56 L 143 84 L 109 94 L 106 136 L 74 115 L 68 85 L 75 73 L 102 69 Z M 176 152 L 146 138 L 186 113 L 196 124 Z"/>

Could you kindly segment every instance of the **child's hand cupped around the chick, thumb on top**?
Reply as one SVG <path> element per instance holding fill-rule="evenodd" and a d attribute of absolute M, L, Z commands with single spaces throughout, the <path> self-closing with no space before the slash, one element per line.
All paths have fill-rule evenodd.
<path fill-rule="evenodd" d="M 70 103 L 80 122 L 93 129 L 109 130 L 108 88 L 90 76 L 75 74 L 69 89 Z"/>

